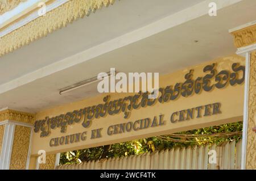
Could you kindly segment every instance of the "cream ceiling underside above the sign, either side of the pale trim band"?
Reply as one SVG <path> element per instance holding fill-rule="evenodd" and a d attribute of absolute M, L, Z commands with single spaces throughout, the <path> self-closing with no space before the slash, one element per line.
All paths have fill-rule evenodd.
<path fill-rule="evenodd" d="M 6 85 L 15 78 L 163 19 L 170 15 L 170 12 L 183 10 L 186 7 L 184 1 L 182 2 L 170 3 L 170 1 L 161 0 L 156 5 L 156 1 L 144 0 L 144 3 L 139 3 L 141 5 L 139 6 L 135 0 L 117 1 L 108 9 L 97 11 L 88 18 L 80 19 L 67 28 L 1 57 L 0 85 Z M 186 2 L 189 4 L 185 5 L 189 7 L 200 1 Z M 145 3 L 148 8 L 143 8 L 142 5 Z M 133 6 L 134 9 L 131 9 Z M 14 89 L 2 91 L 0 108 L 9 107 L 20 111 L 38 112 L 97 95 L 95 83 L 63 95 L 59 95 L 59 90 L 94 77 L 102 71 L 108 72 L 110 68 L 125 73 L 167 74 L 214 58 L 229 56 L 236 52 L 236 48 L 228 30 L 255 20 L 255 7 L 256 1 L 244 0 L 219 10 L 215 17 L 200 16 L 179 26 L 89 58 L 67 69 L 56 71 Z M 153 12 L 157 12 L 156 15 L 152 16 Z"/>

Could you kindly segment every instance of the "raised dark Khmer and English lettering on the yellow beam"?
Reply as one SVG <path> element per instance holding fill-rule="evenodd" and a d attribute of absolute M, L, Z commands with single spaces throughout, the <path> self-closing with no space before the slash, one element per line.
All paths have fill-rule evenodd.
<path fill-rule="evenodd" d="M 166 87 L 162 87 L 159 89 L 159 96 L 156 99 L 148 99 L 148 92 L 139 92 L 138 94 L 129 95 L 124 98 L 110 100 L 110 96 L 105 96 L 103 99 L 104 103 L 97 104 L 94 106 L 88 106 L 85 108 L 81 108 L 80 110 L 75 110 L 72 112 L 67 112 L 55 117 L 46 117 L 43 120 L 36 120 L 34 124 L 34 132 L 40 132 L 40 137 L 47 137 L 51 134 L 52 129 L 60 129 L 61 133 L 65 133 L 69 126 L 73 124 L 81 124 L 84 128 L 89 128 L 90 125 L 93 124 L 93 121 L 96 119 L 100 119 L 105 116 L 114 116 L 119 113 L 123 113 L 123 117 L 125 119 L 129 119 L 132 110 L 143 109 L 146 107 L 152 107 L 155 104 L 165 104 L 168 102 L 172 102 L 178 100 L 180 96 L 187 98 L 188 96 L 192 96 L 193 94 L 200 94 L 201 92 L 209 92 L 214 89 L 222 89 L 226 86 L 235 86 L 242 85 L 245 80 L 245 66 L 242 66 L 238 63 L 232 64 L 230 70 L 221 70 L 217 71 L 217 64 L 210 64 L 203 68 L 204 76 L 201 77 L 193 77 L 194 70 L 191 69 L 185 74 L 184 82 L 177 82 L 175 85 L 170 85 Z M 203 116 L 208 116 L 211 112 L 212 115 L 214 113 L 221 113 L 220 111 L 220 103 L 209 104 L 211 106 L 203 106 L 202 108 L 193 108 L 193 112 L 195 114 L 203 114 Z M 198 105 L 200 107 L 200 105 Z M 209 110 L 212 109 L 212 110 Z M 203 113 L 203 111 L 206 113 Z M 191 111 L 181 111 L 176 112 L 174 115 L 171 115 L 168 119 L 172 121 L 172 123 L 176 123 L 177 120 L 187 119 L 189 117 L 192 118 Z M 186 118 L 185 118 L 186 117 Z M 150 119 L 150 121 L 149 121 Z M 119 126 L 110 126 L 108 128 L 108 135 L 113 135 L 119 133 L 120 130 L 125 130 L 129 132 L 135 128 L 135 130 L 140 130 L 148 127 L 155 127 L 164 125 L 164 115 L 158 115 L 151 118 L 145 118 L 144 120 L 137 120 L 133 123 L 128 122 L 123 123 Z M 86 131 L 78 133 L 74 139 L 75 140 L 85 140 Z M 100 137 L 101 129 L 92 131 L 90 134 L 91 138 Z M 67 139 L 65 139 L 67 140 Z M 64 142 L 64 138 L 61 138 L 61 144 Z"/>

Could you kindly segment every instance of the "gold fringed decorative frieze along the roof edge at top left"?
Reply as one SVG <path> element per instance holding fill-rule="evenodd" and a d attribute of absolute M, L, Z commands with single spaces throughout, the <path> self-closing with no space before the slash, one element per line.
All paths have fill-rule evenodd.
<path fill-rule="evenodd" d="M 115 0 L 72 0 L 0 38 L 0 56 L 67 26 Z"/>

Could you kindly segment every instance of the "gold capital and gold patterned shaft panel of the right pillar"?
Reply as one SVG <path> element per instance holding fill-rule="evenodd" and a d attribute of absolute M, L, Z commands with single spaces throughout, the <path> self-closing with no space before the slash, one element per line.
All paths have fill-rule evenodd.
<path fill-rule="evenodd" d="M 249 26 L 232 32 L 234 36 L 234 44 L 237 48 L 246 48 L 256 43 L 256 26 Z M 249 56 L 249 90 L 247 107 L 247 133 L 246 133 L 246 152 L 245 152 L 245 169 L 256 169 L 256 135 L 253 128 L 256 126 L 256 109 L 255 109 L 255 91 L 256 91 L 256 51 L 248 51 Z"/>

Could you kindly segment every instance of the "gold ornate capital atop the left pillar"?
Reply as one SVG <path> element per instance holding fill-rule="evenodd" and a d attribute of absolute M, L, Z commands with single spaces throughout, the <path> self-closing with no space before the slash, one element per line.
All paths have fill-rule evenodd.
<path fill-rule="evenodd" d="M 35 115 L 32 113 L 14 111 L 14 110 L 3 110 L 0 111 L 0 121 L 13 120 L 22 123 L 34 123 Z"/>

